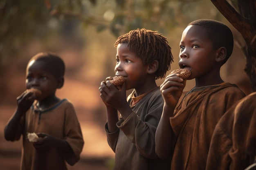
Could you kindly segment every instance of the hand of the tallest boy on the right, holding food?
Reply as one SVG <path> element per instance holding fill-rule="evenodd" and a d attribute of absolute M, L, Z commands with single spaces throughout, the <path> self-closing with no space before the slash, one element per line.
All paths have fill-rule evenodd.
<path fill-rule="evenodd" d="M 171 74 L 166 77 L 160 86 L 160 91 L 167 106 L 175 107 L 182 95 L 186 85 L 186 80 L 178 77 L 177 74 Z"/>

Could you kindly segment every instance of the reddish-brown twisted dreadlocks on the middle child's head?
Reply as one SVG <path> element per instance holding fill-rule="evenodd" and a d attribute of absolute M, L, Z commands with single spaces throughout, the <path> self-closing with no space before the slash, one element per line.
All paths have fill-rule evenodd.
<path fill-rule="evenodd" d="M 144 64 L 150 64 L 154 60 L 159 62 L 155 79 L 164 78 L 165 74 L 171 68 L 173 55 L 171 46 L 169 46 L 167 38 L 157 31 L 146 29 L 136 29 L 129 33 L 121 35 L 114 46 L 119 43 L 127 43 L 129 50 L 135 53 Z"/>

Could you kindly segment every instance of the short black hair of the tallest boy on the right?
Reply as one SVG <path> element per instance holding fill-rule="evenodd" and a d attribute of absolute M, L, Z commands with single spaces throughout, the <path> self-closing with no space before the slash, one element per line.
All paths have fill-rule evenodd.
<path fill-rule="evenodd" d="M 232 31 L 222 22 L 210 19 L 195 20 L 189 25 L 202 26 L 207 30 L 208 38 L 213 42 L 213 48 L 218 49 L 224 46 L 227 49 L 227 56 L 222 64 L 225 64 L 233 52 L 234 38 Z M 189 26 L 188 25 L 188 26 Z"/>

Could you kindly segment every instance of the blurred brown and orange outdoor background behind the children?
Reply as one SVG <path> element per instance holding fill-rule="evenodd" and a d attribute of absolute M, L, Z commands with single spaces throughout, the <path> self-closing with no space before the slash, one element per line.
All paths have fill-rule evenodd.
<path fill-rule="evenodd" d="M 179 68 L 182 31 L 201 18 L 231 28 L 234 51 L 222 66 L 221 77 L 249 94 L 246 59 L 240 48 L 245 42 L 210 0 L 0 0 L 1 169 L 20 166 L 22 142 L 5 141 L 3 129 L 16 108 L 16 97 L 25 91 L 25 71 L 32 56 L 52 51 L 66 64 L 65 84 L 57 96 L 74 104 L 85 141 L 80 161 L 69 169 L 110 170 L 114 152 L 106 140 L 106 110 L 98 88 L 106 77 L 115 75 L 115 41 L 137 28 L 162 33 L 172 47 L 171 72 Z M 194 80 L 189 80 L 185 90 L 193 86 Z"/>

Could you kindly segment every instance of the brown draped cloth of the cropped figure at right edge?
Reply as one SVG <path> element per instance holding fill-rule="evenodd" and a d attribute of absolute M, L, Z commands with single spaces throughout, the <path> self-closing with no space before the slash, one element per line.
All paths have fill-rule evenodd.
<path fill-rule="evenodd" d="M 244 170 L 256 158 L 256 92 L 235 104 L 213 132 L 206 170 Z"/>

